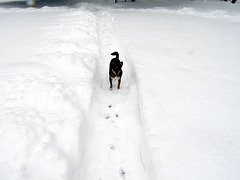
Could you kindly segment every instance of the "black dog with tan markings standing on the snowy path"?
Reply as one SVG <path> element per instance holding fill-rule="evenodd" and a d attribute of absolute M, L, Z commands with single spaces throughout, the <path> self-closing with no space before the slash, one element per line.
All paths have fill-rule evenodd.
<path fill-rule="evenodd" d="M 111 55 L 116 56 L 113 58 L 109 65 L 109 81 L 110 89 L 112 89 L 112 80 L 118 79 L 118 89 L 120 89 L 120 83 L 122 78 L 122 65 L 123 62 L 119 60 L 118 52 L 113 52 Z"/>

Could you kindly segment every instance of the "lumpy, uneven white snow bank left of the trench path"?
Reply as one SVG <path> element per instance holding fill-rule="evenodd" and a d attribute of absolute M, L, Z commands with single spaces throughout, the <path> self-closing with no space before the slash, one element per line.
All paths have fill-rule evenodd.
<path fill-rule="evenodd" d="M 0 179 L 74 179 L 98 52 L 96 18 L 42 8 L 2 9 L 0 19 Z"/>

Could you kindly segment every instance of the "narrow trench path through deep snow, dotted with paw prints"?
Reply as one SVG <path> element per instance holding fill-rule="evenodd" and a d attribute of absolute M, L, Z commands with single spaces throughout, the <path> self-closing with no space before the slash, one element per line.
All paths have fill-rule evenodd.
<path fill-rule="evenodd" d="M 96 16 L 99 59 L 80 177 L 86 180 L 148 180 L 149 160 L 135 74 L 131 62 L 125 59 L 124 47 L 109 13 L 98 11 Z M 110 54 L 114 51 L 120 53 L 124 63 L 120 90 L 116 87 L 117 81 L 113 90 L 109 89 L 108 68 Z"/>

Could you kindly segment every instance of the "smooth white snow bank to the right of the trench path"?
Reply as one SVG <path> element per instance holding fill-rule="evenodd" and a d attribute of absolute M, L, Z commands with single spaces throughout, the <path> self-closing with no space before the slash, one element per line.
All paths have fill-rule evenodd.
<path fill-rule="evenodd" d="M 111 11 L 135 67 L 155 179 L 239 179 L 239 21 L 183 10 Z"/>

